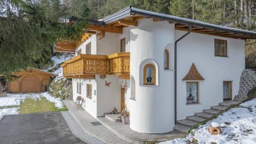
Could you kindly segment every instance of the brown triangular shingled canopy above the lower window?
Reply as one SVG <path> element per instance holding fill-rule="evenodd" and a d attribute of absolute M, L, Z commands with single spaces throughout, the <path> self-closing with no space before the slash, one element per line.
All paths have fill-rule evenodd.
<path fill-rule="evenodd" d="M 204 80 L 204 77 L 202 77 L 199 74 L 195 66 L 195 63 L 192 63 L 188 74 L 182 79 L 182 81 L 202 81 L 202 80 Z"/>

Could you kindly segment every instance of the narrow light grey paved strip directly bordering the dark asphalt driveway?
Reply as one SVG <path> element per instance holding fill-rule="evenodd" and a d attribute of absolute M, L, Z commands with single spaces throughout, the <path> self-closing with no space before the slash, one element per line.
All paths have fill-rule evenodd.
<path fill-rule="evenodd" d="M 61 111 L 63 117 L 65 118 L 68 127 L 72 131 L 72 133 L 77 136 L 77 138 L 80 138 L 84 142 L 88 144 L 105 144 L 102 141 L 98 140 L 97 138 L 94 138 L 90 134 L 84 132 L 83 128 L 77 123 L 75 118 L 70 114 L 69 111 Z"/>

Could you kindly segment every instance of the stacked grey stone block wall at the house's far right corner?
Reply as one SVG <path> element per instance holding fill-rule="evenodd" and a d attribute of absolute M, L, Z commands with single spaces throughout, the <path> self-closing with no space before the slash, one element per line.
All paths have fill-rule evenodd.
<path fill-rule="evenodd" d="M 252 69 L 245 69 L 240 77 L 240 87 L 235 100 L 243 100 L 248 97 L 248 92 L 256 87 L 256 72 Z"/>

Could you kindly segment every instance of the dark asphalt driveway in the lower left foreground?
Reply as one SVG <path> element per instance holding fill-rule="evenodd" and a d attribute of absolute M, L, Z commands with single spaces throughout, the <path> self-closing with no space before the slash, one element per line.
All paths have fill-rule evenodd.
<path fill-rule="evenodd" d="M 0 143 L 82 144 L 68 128 L 61 112 L 4 116 L 0 121 Z"/>

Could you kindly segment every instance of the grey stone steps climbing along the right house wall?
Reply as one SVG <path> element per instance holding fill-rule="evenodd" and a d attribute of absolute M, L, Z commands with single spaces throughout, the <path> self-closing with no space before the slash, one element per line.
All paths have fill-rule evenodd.
<path fill-rule="evenodd" d="M 187 116 L 186 119 L 177 121 L 178 124 L 174 126 L 173 131 L 181 134 L 188 134 L 188 131 L 192 126 L 198 124 L 199 122 L 203 122 L 207 118 L 211 118 L 220 111 L 227 109 L 228 106 L 237 103 L 239 103 L 237 100 L 225 100 L 224 102 L 221 102 L 219 106 L 212 106 L 211 109 L 205 109 L 201 113 L 195 113 L 193 116 Z"/>

